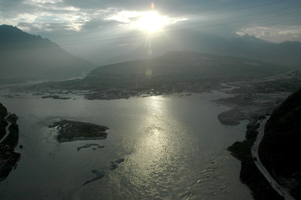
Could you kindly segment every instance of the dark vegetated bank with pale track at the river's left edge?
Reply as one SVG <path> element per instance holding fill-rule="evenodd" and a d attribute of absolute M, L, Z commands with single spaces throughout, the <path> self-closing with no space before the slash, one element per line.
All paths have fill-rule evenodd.
<path fill-rule="evenodd" d="M 9 135 L 0 144 L 0 181 L 5 180 L 11 170 L 16 168 L 21 154 L 14 152 L 18 144 L 19 128 L 17 125 L 18 117 L 15 114 L 8 115 L 7 109 L 0 103 L 0 139 L 6 135 L 6 127 L 8 122 L 12 124 L 9 126 Z"/>

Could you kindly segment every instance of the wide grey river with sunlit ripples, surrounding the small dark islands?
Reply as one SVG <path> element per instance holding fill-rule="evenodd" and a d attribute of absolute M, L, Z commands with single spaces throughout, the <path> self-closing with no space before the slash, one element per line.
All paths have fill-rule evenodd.
<path fill-rule="evenodd" d="M 248 122 L 235 127 L 220 124 L 217 115 L 230 107 L 212 102 L 230 94 L 129 100 L 10 95 L 16 98 L 0 96 L 0 102 L 19 117 L 23 148 L 16 147 L 21 159 L 0 182 L 0 199 L 253 199 L 239 181 L 240 161 L 227 151 L 244 139 Z M 59 144 L 47 126 L 60 119 L 110 130 L 106 139 Z M 77 151 L 91 143 L 105 147 Z M 110 170 L 110 161 L 120 158 L 124 162 Z M 83 186 L 96 177 L 93 169 L 105 176 Z"/>

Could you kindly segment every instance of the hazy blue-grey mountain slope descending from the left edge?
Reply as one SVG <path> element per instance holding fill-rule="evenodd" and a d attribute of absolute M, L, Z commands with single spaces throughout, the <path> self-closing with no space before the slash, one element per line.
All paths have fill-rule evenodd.
<path fill-rule="evenodd" d="M 48 39 L 17 27 L 0 26 L 0 78 L 3 80 L 81 76 L 95 67 Z"/>

